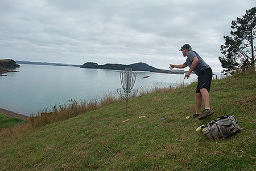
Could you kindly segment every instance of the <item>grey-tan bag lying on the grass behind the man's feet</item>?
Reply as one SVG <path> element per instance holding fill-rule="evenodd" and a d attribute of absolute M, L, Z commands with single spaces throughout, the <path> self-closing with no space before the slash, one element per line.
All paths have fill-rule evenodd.
<path fill-rule="evenodd" d="M 242 129 L 237 124 L 235 116 L 224 115 L 201 127 L 203 134 L 212 140 L 225 139 L 240 132 Z"/>

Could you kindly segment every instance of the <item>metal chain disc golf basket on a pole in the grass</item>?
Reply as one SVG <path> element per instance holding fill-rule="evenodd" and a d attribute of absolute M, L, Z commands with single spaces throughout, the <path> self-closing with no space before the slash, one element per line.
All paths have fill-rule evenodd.
<path fill-rule="evenodd" d="M 121 99 L 126 101 L 126 115 L 127 115 L 127 108 L 128 108 L 128 100 L 131 97 L 137 95 L 138 89 L 133 89 L 135 84 L 137 73 L 131 72 L 131 69 L 125 69 L 125 71 L 120 72 L 120 80 L 122 88 L 117 89 L 118 95 Z"/>

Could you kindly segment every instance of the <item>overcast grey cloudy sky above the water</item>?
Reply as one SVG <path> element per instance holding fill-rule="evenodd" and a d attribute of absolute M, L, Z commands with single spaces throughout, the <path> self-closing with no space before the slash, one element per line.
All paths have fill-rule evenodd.
<path fill-rule="evenodd" d="M 219 72 L 223 36 L 254 6 L 255 0 L 0 0 L 0 59 L 168 69 L 184 63 L 179 49 L 188 43 Z"/>

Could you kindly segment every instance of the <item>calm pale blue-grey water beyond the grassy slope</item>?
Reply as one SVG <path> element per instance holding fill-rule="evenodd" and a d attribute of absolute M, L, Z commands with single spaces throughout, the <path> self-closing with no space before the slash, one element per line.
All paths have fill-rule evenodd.
<path fill-rule="evenodd" d="M 90 100 L 121 88 L 115 70 L 81 69 L 68 66 L 20 65 L 19 72 L 0 76 L 0 108 L 30 116 L 70 99 Z M 149 78 L 142 79 L 149 75 Z M 184 81 L 184 75 L 137 71 L 136 87 L 167 87 L 191 83 L 197 76 Z"/>

